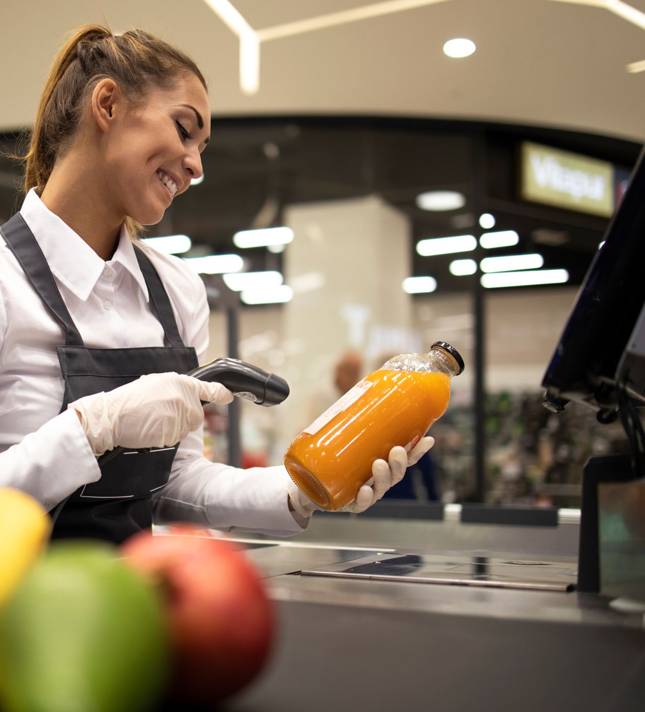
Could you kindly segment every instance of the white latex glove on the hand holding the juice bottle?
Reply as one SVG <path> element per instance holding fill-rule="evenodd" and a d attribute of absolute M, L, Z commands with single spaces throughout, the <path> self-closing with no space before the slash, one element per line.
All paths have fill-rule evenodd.
<path fill-rule="evenodd" d="M 434 438 L 426 436 L 421 438 L 409 453 L 405 451 L 404 447 L 397 445 L 389 451 L 387 462 L 385 460 L 374 460 L 372 477 L 360 488 L 356 499 L 338 511 L 352 512 L 354 514 L 365 512 L 374 502 L 382 498 L 390 487 L 400 482 L 407 468 L 416 464 L 419 458 L 426 454 L 433 445 Z M 287 491 L 293 508 L 300 517 L 308 519 L 313 512 L 323 509 L 310 500 L 303 491 L 300 491 L 291 479 L 289 479 Z M 302 525 L 302 523 L 300 524 Z"/>

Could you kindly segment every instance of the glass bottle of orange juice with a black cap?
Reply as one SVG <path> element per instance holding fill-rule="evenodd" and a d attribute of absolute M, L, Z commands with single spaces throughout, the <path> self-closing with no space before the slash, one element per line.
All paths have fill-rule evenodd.
<path fill-rule="evenodd" d="M 293 481 L 318 506 L 341 509 L 395 445 L 410 451 L 444 414 L 463 360 L 444 341 L 400 354 L 370 373 L 305 428 L 285 453 Z"/>

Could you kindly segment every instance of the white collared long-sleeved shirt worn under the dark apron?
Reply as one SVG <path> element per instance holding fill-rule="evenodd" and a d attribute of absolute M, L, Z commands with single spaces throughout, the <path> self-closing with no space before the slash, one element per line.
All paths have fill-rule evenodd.
<path fill-rule="evenodd" d="M 164 346 L 135 249 L 122 229 L 105 262 L 32 189 L 21 216 L 36 237 L 83 337 L 95 348 Z M 199 276 L 183 260 L 140 244 L 159 273 L 187 346 L 200 363 L 208 346 L 209 306 Z M 59 414 L 65 342 L 4 239 L 0 239 L 0 486 L 30 493 L 48 510 L 100 470 L 75 412 Z M 179 446 L 169 483 L 153 498 L 155 523 L 190 520 L 223 530 L 291 535 L 302 529 L 287 504 L 283 467 L 240 470 L 202 455 L 201 429 Z"/>

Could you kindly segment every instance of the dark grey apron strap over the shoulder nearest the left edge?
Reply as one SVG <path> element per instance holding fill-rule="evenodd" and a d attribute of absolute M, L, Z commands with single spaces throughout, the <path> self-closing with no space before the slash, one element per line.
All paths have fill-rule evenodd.
<path fill-rule="evenodd" d="M 31 286 L 36 290 L 53 317 L 65 329 L 65 345 L 84 346 L 80 332 L 58 291 L 41 246 L 38 245 L 23 216 L 16 213 L 0 228 L 0 234 L 4 237 L 7 247 L 19 261 Z"/>

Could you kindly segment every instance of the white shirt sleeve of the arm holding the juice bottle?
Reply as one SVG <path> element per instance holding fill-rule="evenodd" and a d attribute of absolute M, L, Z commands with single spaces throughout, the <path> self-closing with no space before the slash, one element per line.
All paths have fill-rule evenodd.
<path fill-rule="evenodd" d="M 184 341 L 204 362 L 209 342 L 209 305 L 197 278 L 194 318 Z M 203 429 L 189 434 L 175 456 L 167 485 L 154 494 L 154 523 L 192 521 L 228 532 L 243 530 L 290 536 L 303 530 L 289 511 L 283 466 L 247 470 L 204 457 Z M 308 520 L 305 526 L 308 525 Z"/>

